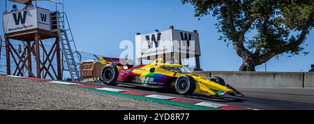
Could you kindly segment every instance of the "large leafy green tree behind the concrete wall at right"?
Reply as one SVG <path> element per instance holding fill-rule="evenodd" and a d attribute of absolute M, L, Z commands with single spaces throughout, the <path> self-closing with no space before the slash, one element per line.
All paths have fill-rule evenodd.
<path fill-rule="evenodd" d="M 195 7 L 195 17 L 213 15 L 220 40 L 232 43 L 249 71 L 281 54 L 304 52 L 314 26 L 313 0 L 181 0 Z M 255 36 L 248 36 L 248 33 Z"/>

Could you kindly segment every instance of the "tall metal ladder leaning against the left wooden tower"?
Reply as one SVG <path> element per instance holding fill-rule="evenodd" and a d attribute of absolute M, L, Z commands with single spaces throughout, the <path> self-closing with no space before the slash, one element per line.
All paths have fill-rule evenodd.
<path fill-rule="evenodd" d="M 68 71 L 72 80 L 80 79 L 79 67 L 81 56 L 80 53 L 77 52 L 73 33 L 70 29 L 70 24 L 68 22 L 68 17 L 64 12 L 54 12 L 54 15 L 52 14 L 51 16 L 52 19 L 54 18 L 54 16 L 57 16 L 54 19 L 57 19 L 57 32 L 59 33 L 59 40 L 61 42 L 63 56 L 65 57 L 66 65 L 68 66 L 68 68 L 65 68 L 63 71 Z M 52 20 L 52 22 L 53 21 L 54 20 Z M 79 63 L 77 63 L 76 61 L 78 61 Z"/>

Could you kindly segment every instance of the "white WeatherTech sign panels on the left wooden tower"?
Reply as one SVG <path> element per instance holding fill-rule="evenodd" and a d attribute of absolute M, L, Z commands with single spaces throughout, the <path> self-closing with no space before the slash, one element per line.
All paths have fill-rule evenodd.
<path fill-rule="evenodd" d="M 50 31 L 50 11 L 43 8 L 30 8 L 3 13 L 4 33 L 14 33 L 29 29 Z"/>

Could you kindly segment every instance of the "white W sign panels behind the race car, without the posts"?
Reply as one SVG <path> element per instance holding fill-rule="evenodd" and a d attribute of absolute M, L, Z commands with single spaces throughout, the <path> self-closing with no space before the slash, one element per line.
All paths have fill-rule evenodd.
<path fill-rule="evenodd" d="M 170 29 L 135 36 L 137 58 L 160 54 L 200 55 L 198 33 Z"/>

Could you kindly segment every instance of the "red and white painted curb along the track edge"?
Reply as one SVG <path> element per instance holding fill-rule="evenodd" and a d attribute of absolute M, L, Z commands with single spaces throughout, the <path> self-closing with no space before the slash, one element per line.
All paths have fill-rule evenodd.
<path fill-rule="evenodd" d="M 102 86 L 92 86 L 92 85 L 85 85 L 85 84 L 77 84 L 77 83 L 72 83 L 72 82 L 61 82 L 61 81 L 52 81 L 49 79 L 36 79 L 36 78 L 28 78 L 28 77 L 17 77 L 17 76 L 11 76 L 11 75 L 4 75 L 7 77 L 15 77 L 15 78 L 22 78 L 22 79 L 30 79 L 34 81 L 42 81 L 42 82 L 47 82 L 47 83 L 52 83 L 52 84 L 63 84 L 63 85 L 70 85 L 70 86 L 79 86 L 79 87 L 85 87 L 85 88 L 95 88 L 97 90 L 101 91 L 111 91 L 111 92 L 117 92 L 117 93 L 125 93 L 125 94 L 130 94 L 130 95 L 139 95 L 147 98 L 156 98 L 160 100 L 170 100 L 174 102 L 184 102 L 188 104 L 195 104 L 199 106 L 204 106 L 204 107 L 214 107 L 217 109 L 224 109 L 224 110 L 258 110 L 258 109 L 252 109 L 248 107 L 236 107 L 236 106 L 231 106 L 227 104 L 218 104 L 214 102 L 202 102 L 198 100 L 188 100 L 184 98 L 176 98 L 172 96 L 167 96 L 167 95 L 157 95 L 157 94 L 150 94 L 150 93 L 141 93 L 137 91 L 128 91 L 128 90 L 122 90 L 118 88 L 105 88 Z"/>

